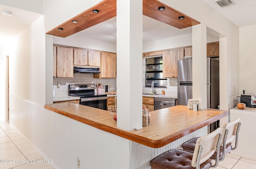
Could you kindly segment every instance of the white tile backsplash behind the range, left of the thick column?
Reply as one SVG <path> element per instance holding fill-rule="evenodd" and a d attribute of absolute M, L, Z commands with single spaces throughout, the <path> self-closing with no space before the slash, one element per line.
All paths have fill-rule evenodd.
<path fill-rule="evenodd" d="M 101 83 L 105 88 L 105 85 L 108 85 L 109 89 L 116 89 L 116 79 L 108 78 L 108 79 L 94 79 L 93 74 L 80 74 L 75 73 L 74 78 L 53 78 L 53 88 L 55 92 L 68 92 L 68 85 L 70 83 L 78 84 L 78 83 L 93 83 L 98 84 Z M 57 85 L 60 84 L 60 87 L 57 88 Z"/>

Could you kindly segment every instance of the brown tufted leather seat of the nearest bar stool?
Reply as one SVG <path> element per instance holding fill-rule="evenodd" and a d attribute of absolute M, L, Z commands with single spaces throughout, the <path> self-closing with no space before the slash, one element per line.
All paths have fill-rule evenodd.
<path fill-rule="evenodd" d="M 151 169 L 195 169 L 191 165 L 192 157 L 193 153 L 171 149 L 152 159 L 150 165 Z M 212 166 L 212 160 L 208 159 L 200 166 L 202 166 L 200 169 L 209 169 Z"/>

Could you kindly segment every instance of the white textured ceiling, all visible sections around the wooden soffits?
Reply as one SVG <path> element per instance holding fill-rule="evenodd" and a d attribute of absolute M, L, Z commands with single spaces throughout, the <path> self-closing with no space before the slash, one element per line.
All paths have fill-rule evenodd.
<path fill-rule="evenodd" d="M 222 8 L 215 1 L 216 0 L 202 0 L 214 10 L 220 12 L 228 20 L 236 24 L 238 27 L 249 26 L 256 24 L 256 0 L 231 0 L 234 5 Z M 3 16 L 0 14 L 0 45 L 6 40 L 18 35 L 28 25 L 34 22 L 37 18 L 42 16 L 27 10 L 12 8 L 0 4 L 0 12 L 2 10 L 10 10 L 13 12 L 12 17 Z M 143 16 L 143 42 L 154 41 L 157 39 L 164 39 L 191 33 L 192 28 L 177 29 L 157 20 Z M 116 18 L 112 18 L 81 31 L 72 36 L 85 36 L 104 41 L 116 42 Z"/>

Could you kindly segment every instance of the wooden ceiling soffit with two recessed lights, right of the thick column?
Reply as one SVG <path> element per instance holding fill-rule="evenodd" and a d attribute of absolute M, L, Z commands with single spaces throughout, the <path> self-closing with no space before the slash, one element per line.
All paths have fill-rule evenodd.
<path fill-rule="evenodd" d="M 161 6 L 164 6 L 165 10 L 158 10 L 158 7 Z M 158 0 L 143 0 L 143 15 L 179 29 L 200 24 L 197 20 L 190 18 Z M 180 20 L 178 19 L 179 16 L 185 16 L 185 18 Z"/>

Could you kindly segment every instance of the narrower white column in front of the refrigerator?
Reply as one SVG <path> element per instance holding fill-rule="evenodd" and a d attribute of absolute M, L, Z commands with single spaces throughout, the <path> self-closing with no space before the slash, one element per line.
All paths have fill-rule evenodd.
<path fill-rule="evenodd" d="M 203 24 L 192 27 L 192 56 L 193 98 L 201 98 L 202 108 L 207 108 L 206 26 Z"/>

